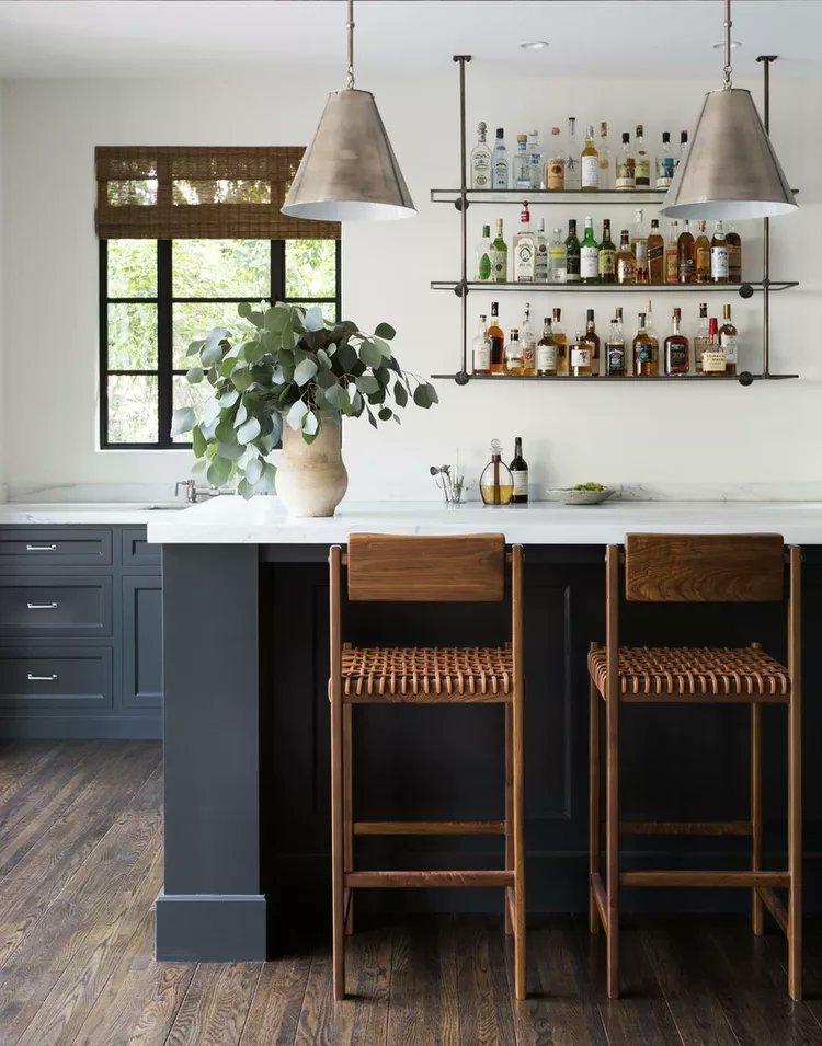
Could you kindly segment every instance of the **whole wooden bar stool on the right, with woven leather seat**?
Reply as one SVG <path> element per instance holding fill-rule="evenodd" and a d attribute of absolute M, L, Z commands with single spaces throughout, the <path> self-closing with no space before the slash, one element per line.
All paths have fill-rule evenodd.
<path fill-rule="evenodd" d="M 619 646 L 619 567 L 625 598 L 642 602 L 781 602 L 785 564 L 788 665 L 758 643 L 742 650 Z M 608 997 L 619 995 L 619 889 L 623 886 L 746 886 L 753 932 L 763 932 L 763 906 L 788 940 L 788 991 L 802 997 L 801 798 L 801 550 L 785 549 L 779 535 L 631 533 L 625 555 L 606 554 L 605 647 L 592 644 L 590 750 L 590 929 L 607 935 Z M 605 702 L 605 882 L 600 854 L 600 702 Z M 751 706 L 750 821 L 620 821 L 619 704 L 683 702 Z M 762 705 L 785 704 L 788 714 L 788 867 L 762 867 Z M 619 871 L 619 836 L 750 836 L 750 871 Z M 787 908 L 775 888 L 788 890 Z"/>

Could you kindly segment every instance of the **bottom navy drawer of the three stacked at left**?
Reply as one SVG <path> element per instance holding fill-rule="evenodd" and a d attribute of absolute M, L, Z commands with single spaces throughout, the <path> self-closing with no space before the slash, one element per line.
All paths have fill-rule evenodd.
<path fill-rule="evenodd" d="M 107 647 L 0 648 L 0 708 L 111 706 Z"/>

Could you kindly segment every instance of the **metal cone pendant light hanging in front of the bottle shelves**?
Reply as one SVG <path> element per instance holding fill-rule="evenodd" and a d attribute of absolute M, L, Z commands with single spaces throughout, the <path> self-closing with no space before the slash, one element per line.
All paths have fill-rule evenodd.
<path fill-rule="evenodd" d="M 768 218 L 797 205 L 750 91 L 731 87 L 731 0 L 724 84 L 708 91 L 692 146 L 660 208 L 669 218 Z"/>

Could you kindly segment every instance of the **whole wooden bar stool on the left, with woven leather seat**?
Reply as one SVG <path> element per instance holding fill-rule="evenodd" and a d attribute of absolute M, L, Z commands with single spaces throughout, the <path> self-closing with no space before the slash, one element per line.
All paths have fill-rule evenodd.
<path fill-rule="evenodd" d="M 341 567 L 350 600 L 500 602 L 511 563 L 511 643 L 504 647 L 361 647 L 343 643 Z M 505 555 L 503 535 L 402 537 L 351 535 L 347 555 L 329 553 L 331 605 L 331 863 L 334 998 L 345 997 L 344 933 L 352 892 L 385 886 L 501 886 L 505 930 L 514 934 L 514 995 L 525 998 L 525 850 L 523 836 L 523 550 Z M 505 819 L 358 821 L 353 812 L 354 704 L 505 705 Z M 481 871 L 367 871 L 354 867 L 354 837 L 504 835 L 505 866 Z"/>

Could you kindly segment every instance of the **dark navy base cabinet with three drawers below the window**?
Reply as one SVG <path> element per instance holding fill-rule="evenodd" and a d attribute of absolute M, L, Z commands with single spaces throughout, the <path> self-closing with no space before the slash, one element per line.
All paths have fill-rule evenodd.
<path fill-rule="evenodd" d="M 0 527 L 0 737 L 161 736 L 160 564 L 145 527 Z"/>

